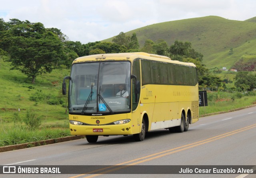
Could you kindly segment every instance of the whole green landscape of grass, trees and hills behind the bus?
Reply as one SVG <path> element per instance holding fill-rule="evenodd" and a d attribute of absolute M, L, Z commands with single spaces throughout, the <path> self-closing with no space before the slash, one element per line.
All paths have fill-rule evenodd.
<path fill-rule="evenodd" d="M 196 64 L 200 89 L 208 90 L 206 113 L 256 104 L 254 22 L 209 16 L 82 44 L 40 22 L 0 19 L 0 146 L 69 135 L 61 83 L 74 59 L 92 54 L 141 51 Z"/>

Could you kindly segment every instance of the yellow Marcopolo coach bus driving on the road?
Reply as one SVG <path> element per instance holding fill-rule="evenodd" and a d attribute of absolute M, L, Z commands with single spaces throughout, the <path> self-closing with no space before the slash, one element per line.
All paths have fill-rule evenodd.
<path fill-rule="evenodd" d="M 198 80 L 193 63 L 148 53 L 100 54 L 79 57 L 62 84 L 71 135 L 133 135 L 187 131 L 198 121 Z"/>

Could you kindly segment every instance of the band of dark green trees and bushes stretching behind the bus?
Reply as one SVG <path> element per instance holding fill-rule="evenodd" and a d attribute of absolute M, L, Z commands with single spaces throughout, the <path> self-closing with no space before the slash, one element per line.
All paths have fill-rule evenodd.
<path fill-rule="evenodd" d="M 169 47 L 163 39 L 158 39 L 156 42 L 147 39 L 140 49 L 136 33 L 128 36 L 120 32 L 112 42 L 96 41 L 82 45 L 78 41 L 69 41 L 60 29 L 45 28 L 40 22 L 31 23 L 28 20 L 18 19 L 11 19 L 10 22 L 0 19 L 0 31 L 0 57 L 10 62 L 11 70 L 20 70 L 31 78 L 32 84 L 36 82 L 37 76 L 50 73 L 59 65 L 70 67 L 72 61 L 80 56 L 143 51 L 195 63 L 198 67 L 200 85 L 220 85 L 220 80 L 210 75 L 203 66 L 203 55 L 192 49 L 191 43 L 187 41 L 175 41 L 174 45 Z M 212 80 L 208 80 L 209 77 Z M 205 81 L 208 81 L 207 84 Z M 30 96 L 30 100 L 35 102 L 46 98 L 38 92 L 34 95 Z M 63 102 L 53 96 L 47 100 L 48 104 Z"/>

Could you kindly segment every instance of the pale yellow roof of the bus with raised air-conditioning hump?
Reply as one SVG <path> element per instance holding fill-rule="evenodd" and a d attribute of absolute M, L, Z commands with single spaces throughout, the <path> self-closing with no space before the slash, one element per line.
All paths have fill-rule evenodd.
<path fill-rule="evenodd" d="M 180 61 L 173 61 L 169 57 L 162 55 L 149 54 L 144 52 L 136 52 L 136 53 L 110 53 L 110 54 L 97 54 L 97 55 L 89 55 L 84 57 L 78 57 L 73 61 L 73 63 L 81 63 L 88 61 L 108 61 L 108 60 L 129 60 L 133 61 L 134 59 L 148 59 L 154 61 L 160 61 L 163 63 L 174 63 L 178 65 L 186 65 L 196 67 L 193 63 L 184 63 Z"/>

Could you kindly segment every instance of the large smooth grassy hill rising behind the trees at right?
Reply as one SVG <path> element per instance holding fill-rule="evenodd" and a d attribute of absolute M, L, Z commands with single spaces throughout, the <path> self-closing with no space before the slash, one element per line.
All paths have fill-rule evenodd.
<path fill-rule="evenodd" d="M 246 21 L 228 20 L 218 16 L 191 18 L 156 23 L 126 32 L 136 33 L 140 47 L 146 39 L 189 41 L 192 48 L 204 55 L 208 68 L 230 68 L 243 55 L 256 55 L 256 18 Z M 113 38 L 113 37 L 112 37 Z M 112 38 L 104 41 L 112 41 Z M 232 49 L 232 53 L 230 53 Z"/>

